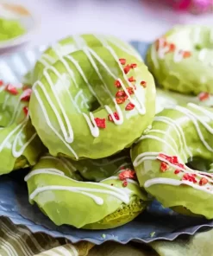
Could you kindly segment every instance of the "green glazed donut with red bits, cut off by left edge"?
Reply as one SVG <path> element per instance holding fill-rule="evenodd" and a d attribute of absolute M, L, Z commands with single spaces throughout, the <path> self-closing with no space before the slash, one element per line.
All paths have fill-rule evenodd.
<path fill-rule="evenodd" d="M 44 149 L 28 117 L 30 94 L 0 80 L 0 175 L 34 165 Z"/>

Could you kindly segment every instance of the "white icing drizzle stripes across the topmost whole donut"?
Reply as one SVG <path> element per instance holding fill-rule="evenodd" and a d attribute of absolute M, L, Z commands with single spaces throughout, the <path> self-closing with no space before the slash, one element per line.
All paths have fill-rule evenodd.
<path fill-rule="evenodd" d="M 118 63 L 119 67 L 120 67 L 121 70 L 122 70 L 123 77 L 124 77 L 124 79 L 126 80 L 126 82 L 128 83 L 128 86 L 131 86 L 131 87 L 133 88 L 133 90 L 135 90 L 135 89 L 134 89 L 134 86 L 128 81 L 128 77 L 127 77 L 126 74 L 124 73 L 123 68 L 122 68 L 122 65 L 121 65 L 120 61 L 118 60 L 118 57 L 117 57 L 115 51 L 114 51 L 112 48 L 110 48 L 110 46 L 107 44 L 107 41 L 103 41 L 102 39 L 99 39 L 98 36 L 97 36 L 97 39 L 100 40 L 100 42 L 103 43 L 103 46 L 109 50 L 110 54 L 114 57 L 114 59 L 115 59 L 116 62 Z M 121 107 L 116 104 L 116 99 L 111 95 L 111 93 L 110 93 L 110 91 L 109 91 L 107 85 L 105 84 L 105 82 L 104 82 L 104 80 L 103 80 L 102 75 L 101 75 L 100 72 L 99 72 L 99 69 L 98 69 L 98 67 L 97 67 L 97 64 L 96 64 L 96 62 L 93 60 L 93 58 L 96 58 L 96 60 L 106 69 L 106 71 L 107 71 L 115 80 L 119 80 L 119 81 L 121 82 L 122 88 L 123 88 L 124 92 L 127 94 L 129 102 L 131 102 L 132 104 L 135 105 L 135 108 L 138 110 L 138 112 L 139 112 L 140 114 L 142 114 L 142 115 L 145 114 L 145 113 L 146 113 L 146 108 L 145 108 L 145 106 L 144 106 L 142 100 L 140 99 L 138 93 L 135 91 L 135 99 L 137 99 L 137 100 L 132 99 L 131 96 L 130 96 L 129 93 L 128 93 L 127 88 L 126 88 L 125 85 L 123 84 L 122 80 L 116 78 L 116 76 L 115 76 L 114 74 L 112 74 L 112 72 L 110 71 L 110 68 L 104 63 L 104 61 L 103 61 L 91 48 L 87 48 L 87 47 L 86 47 L 86 42 L 85 42 L 85 40 L 84 40 L 81 36 L 76 35 L 76 36 L 74 37 L 74 41 L 75 41 L 76 45 L 78 46 L 78 48 L 81 48 L 81 49 L 85 52 L 86 56 L 88 57 L 89 61 L 91 62 L 92 67 L 95 69 L 95 71 L 96 71 L 96 73 L 97 73 L 99 79 L 102 80 L 103 86 L 104 86 L 104 90 L 105 90 L 107 93 L 109 93 L 110 98 L 112 99 L 112 101 L 114 102 L 114 104 L 115 104 L 115 106 L 116 106 L 116 112 L 117 112 L 118 115 L 119 115 L 119 119 L 118 119 L 118 120 L 116 120 L 116 118 L 114 117 L 113 111 L 110 109 L 110 106 L 104 106 L 105 109 L 106 109 L 106 111 L 109 112 L 109 114 L 111 115 L 111 117 L 112 117 L 114 123 L 115 123 L 116 125 L 122 125 L 122 123 L 123 123 L 122 110 L 121 110 Z M 72 64 L 77 68 L 78 73 L 81 75 L 81 77 L 82 77 L 83 80 L 85 81 L 85 84 L 88 86 L 90 92 L 92 93 L 92 95 L 93 95 L 95 98 L 97 98 L 98 102 L 99 102 L 100 105 L 102 106 L 101 100 L 98 99 L 97 93 L 95 93 L 95 91 L 93 90 L 93 88 L 92 88 L 92 86 L 91 86 L 89 80 L 87 80 L 86 75 L 85 75 L 85 73 L 84 73 L 82 67 L 80 67 L 80 65 L 78 64 L 78 61 L 76 61 L 76 60 L 72 57 L 72 55 L 66 55 L 65 57 L 62 57 L 62 54 L 61 54 L 61 52 L 58 50 L 58 48 L 59 48 L 59 47 L 57 47 L 57 45 L 56 45 L 56 46 L 53 46 L 54 52 L 55 52 L 55 53 L 57 54 L 57 56 L 59 57 L 61 63 L 63 63 L 63 65 L 66 67 L 67 73 L 71 76 L 71 78 L 72 78 L 72 80 L 73 80 L 75 86 L 78 87 L 78 84 L 77 84 L 76 80 L 74 79 L 74 74 L 73 74 L 73 72 L 72 72 L 72 69 L 69 67 L 69 65 L 68 65 L 68 63 L 67 63 L 66 60 L 71 61 Z M 59 72 L 58 72 L 54 67 L 50 67 L 50 68 L 51 68 L 51 70 L 53 71 L 53 73 L 56 74 L 57 77 L 58 77 L 59 80 L 60 80 L 61 76 L 60 76 Z M 73 142 L 73 139 L 74 139 L 74 135 L 73 135 L 73 131 L 72 131 L 72 125 L 71 125 L 71 123 L 70 123 L 69 118 L 68 118 L 67 115 L 66 115 L 66 111 L 65 111 L 65 109 L 64 109 L 64 107 L 63 107 L 63 105 L 62 105 L 62 103 L 60 102 L 60 97 L 59 97 L 58 93 L 56 93 L 55 90 L 54 90 L 53 80 L 51 80 L 51 77 L 50 77 L 50 75 L 48 74 L 47 69 L 44 71 L 44 76 L 46 77 L 47 82 L 48 82 L 48 85 L 50 86 L 50 88 L 51 88 L 51 90 L 52 90 L 52 92 L 53 92 L 54 98 L 57 100 L 57 103 L 58 103 L 58 105 L 59 105 L 59 107 L 60 107 L 60 112 L 62 113 L 63 118 L 65 119 L 64 121 L 66 122 L 66 125 L 64 125 L 64 121 L 62 120 L 62 118 L 60 118 L 60 112 L 58 112 L 57 107 L 53 105 L 53 101 L 52 101 L 52 100 L 50 99 L 50 97 L 48 96 L 47 90 L 46 90 L 45 86 L 44 86 L 43 84 L 41 84 L 41 81 L 37 81 L 37 82 L 35 83 L 35 85 L 34 85 L 34 91 L 36 91 L 36 86 L 40 86 L 40 87 L 41 87 L 41 90 L 43 91 L 44 95 L 45 95 L 46 98 L 47 98 L 48 104 L 52 107 L 53 112 L 54 112 L 56 118 L 58 119 L 58 123 L 59 123 L 59 125 L 60 125 L 60 130 L 61 130 L 62 133 L 63 133 L 64 140 L 66 141 L 66 143 L 71 144 L 71 143 Z M 77 104 L 77 102 L 76 102 L 76 99 L 78 99 L 79 95 L 82 95 L 82 94 L 77 94 L 77 96 L 76 96 L 77 98 L 75 98 L 75 100 L 73 100 L 73 99 L 72 99 L 72 95 L 71 95 L 71 93 L 69 93 L 69 90 L 68 90 L 67 87 L 66 87 L 66 91 L 67 91 L 67 94 L 69 94 L 69 97 L 70 97 L 70 99 L 71 99 L 71 101 L 72 101 L 73 106 L 75 106 L 75 107 L 77 108 L 78 112 L 80 112 L 80 110 L 79 110 L 79 108 L 78 108 L 78 104 Z M 39 93 L 36 93 L 36 98 L 37 98 L 37 99 L 38 99 L 38 95 L 39 95 Z M 85 99 L 84 96 L 83 96 L 83 99 Z M 40 98 L 40 105 L 41 105 L 41 98 Z M 85 102 L 85 100 L 82 102 L 82 106 L 84 106 L 84 105 L 85 105 L 87 108 L 89 107 L 88 104 Z M 42 110 L 45 109 L 45 106 L 44 106 L 43 103 L 42 103 L 41 108 L 42 108 Z M 45 111 L 45 112 L 47 113 L 47 111 Z M 99 128 L 97 127 L 97 124 L 96 124 L 96 122 L 95 122 L 95 119 L 94 119 L 93 114 L 92 114 L 91 112 L 89 113 L 89 116 L 88 116 L 88 114 L 86 114 L 86 113 L 84 113 L 84 112 L 82 112 L 82 114 L 83 114 L 83 116 L 85 117 L 86 123 L 87 123 L 87 125 L 89 126 L 89 128 L 90 128 L 90 130 L 91 130 L 91 135 L 92 135 L 93 137 L 97 138 L 97 137 L 99 136 Z M 47 115 L 45 115 L 45 117 L 47 117 Z M 51 125 L 50 122 L 47 122 L 47 123 L 48 123 L 48 125 Z M 51 127 L 52 127 L 51 129 L 53 130 L 53 125 L 51 125 Z M 66 128 L 67 128 L 68 131 L 66 131 Z M 54 130 L 56 130 L 56 129 L 54 129 Z M 59 132 L 57 132 L 57 134 L 59 134 Z"/>

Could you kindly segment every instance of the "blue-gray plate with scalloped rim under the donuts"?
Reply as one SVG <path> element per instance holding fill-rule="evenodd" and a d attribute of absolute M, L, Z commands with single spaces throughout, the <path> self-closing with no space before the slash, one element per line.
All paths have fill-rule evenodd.
<path fill-rule="evenodd" d="M 144 56 L 148 44 L 132 42 Z M 20 81 L 41 53 L 41 48 L 11 54 L 0 60 L 0 79 L 10 82 Z M 25 170 L 18 170 L 8 176 L 0 177 L 0 216 L 8 217 L 17 225 L 28 227 L 33 233 L 42 232 L 56 238 L 66 238 L 71 242 L 91 241 L 97 245 L 106 240 L 126 244 L 129 241 L 151 242 L 153 240 L 174 240 L 181 234 L 195 234 L 198 229 L 213 227 L 213 221 L 204 218 L 191 218 L 175 214 L 171 209 L 163 208 L 159 202 L 153 202 L 147 211 L 135 221 L 109 230 L 88 231 L 74 227 L 57 227 L 47 216 L 28 202 L 28 189 L 23 177 Z"/>

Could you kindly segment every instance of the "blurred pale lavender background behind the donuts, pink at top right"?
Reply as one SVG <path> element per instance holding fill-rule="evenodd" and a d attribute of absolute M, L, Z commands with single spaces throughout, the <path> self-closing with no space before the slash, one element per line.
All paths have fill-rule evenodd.
<path fill-rule="evenodd" d="M 48 44 L 70 34 L 99 32 L 125 40 L 153 41 L 177 23 L 213 24 L 213 12 L 191 14 L 180 0 L 16 0 L 34 16 L 29 45 Z M 193 1 L 193 0 L 191 0 Z M 212 0 L 194 0 L 199 6 Z M 1 3 L 1 0 L 0 0 Z M 176 4 L 176 5 L 175 5 Z M 174 6 L 175 5 L 175 6 Z M 0 9 L 1 12 L 1 9 Z M 200 11 L 202 12 L 202 11 Z M 1 15 L 1 13 L 0 13 Z M 29 46 L 28 45 L 28 46 Z"/>

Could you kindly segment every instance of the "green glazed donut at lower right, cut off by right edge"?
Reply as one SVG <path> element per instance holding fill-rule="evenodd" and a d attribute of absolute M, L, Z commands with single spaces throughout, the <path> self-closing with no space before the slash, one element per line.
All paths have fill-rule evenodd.
<path fill-rule="evenodd" d="M 141 187 L 164 207 L 213 218 L 212 108 L 189 103 L 160 112 L 131 157 Z M 206 171 L 186 165 L 193 160 Z"/>

